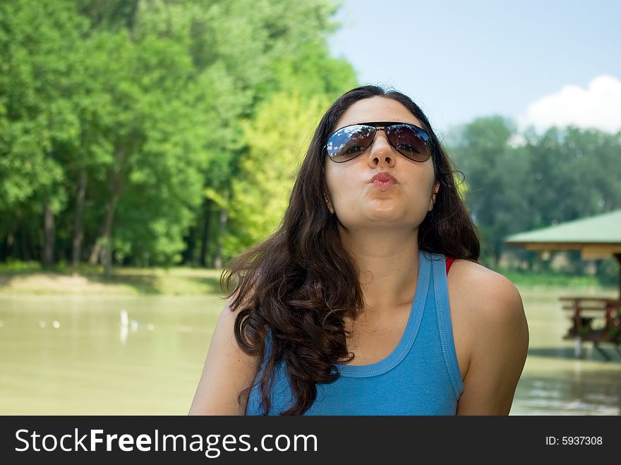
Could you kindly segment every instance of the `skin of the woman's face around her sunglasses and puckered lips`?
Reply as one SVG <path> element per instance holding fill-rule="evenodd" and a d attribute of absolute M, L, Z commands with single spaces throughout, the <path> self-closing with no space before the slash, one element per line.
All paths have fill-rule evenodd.
<path fill-rule="evenodd" d="M 370 121 L 422 126 L 396 100 L 371 97 L 351 105 L 332 130 Z M 343 163 L 326 159 L 325 167 L 330 210 L 351 231 L 373 226 L 417 228 L 433 208 L 432 194 L 440 186 L 431 157 L 422 163 L 406 158 L 388 143 L 384 131 L 377 131 L 373 143 L 358 157 Z M 371 183 L 379 171 L 392 174 L 397 183 L 387 188 Z"/>

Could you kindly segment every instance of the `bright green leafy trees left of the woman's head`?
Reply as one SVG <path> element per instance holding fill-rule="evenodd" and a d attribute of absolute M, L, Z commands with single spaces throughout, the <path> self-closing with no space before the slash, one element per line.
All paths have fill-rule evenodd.
<path fill-rule="evenodd" d="M 41 257 L 45 207 L 59 263 L 80 229 L 82 260 L 100 245 L 140 265 L 179 263 L 203 238 L 211 260 L 258 240 L 284 207 L 270 193 L 291 182 L 265 184 L 263 131 L 291 168 L 320 104 L 355 85 L 327 52 L 335 11 L 331 0 L 2 2 L 0 259 Z M 278 111 L 300 126 L 271 128 Z M 268 217 L 248 213 L 259 198 Z M 217 223 L 222 209 L 231 224 Z"/>

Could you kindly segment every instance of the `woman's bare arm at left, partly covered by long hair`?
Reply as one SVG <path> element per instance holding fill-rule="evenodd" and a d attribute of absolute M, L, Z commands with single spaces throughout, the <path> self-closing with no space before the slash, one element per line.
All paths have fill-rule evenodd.
<path fill-rule="evenodd" d="M 239 348 L 234 335 L 236 315 L 227 301 L 216 323 L 189 415 L 246 413 L 247 399 L 239 404 L 238 397 L 243 389 L 252 385 L 258 359 Z"/>

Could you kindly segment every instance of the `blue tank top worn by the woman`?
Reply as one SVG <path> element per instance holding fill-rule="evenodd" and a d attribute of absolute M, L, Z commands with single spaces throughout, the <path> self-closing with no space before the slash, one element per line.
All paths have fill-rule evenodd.
<path fill-rule="evenodd" d="M 445 256 L 421 250 L 418 257 L 416 294 L 397 347 L 370 365 L 337 364 L 339 378 L 317 385 L 317 398 L 306 415 L 455 414 L 464 385 L 453 342 Z M 270 346 L 267 337 L 267 351 Z M 264 366 L 265 360 L 259 374 Z M 293 402 L 282 363 L 275 373 L 271 399 L 270 415 L 279 415 Z M 262 414 L 255 382 L 246 415 Z"/>

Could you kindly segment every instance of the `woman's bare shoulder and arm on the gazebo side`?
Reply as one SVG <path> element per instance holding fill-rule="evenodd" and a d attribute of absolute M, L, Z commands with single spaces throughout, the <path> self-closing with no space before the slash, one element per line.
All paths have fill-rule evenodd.
<path fill-rule="evenodd" d="M 506 415 L 526 361 L 529 329 L 517 287 L 468 260 L 451 267 L 452 318 L 467 370 L 458 414 Z"/>

